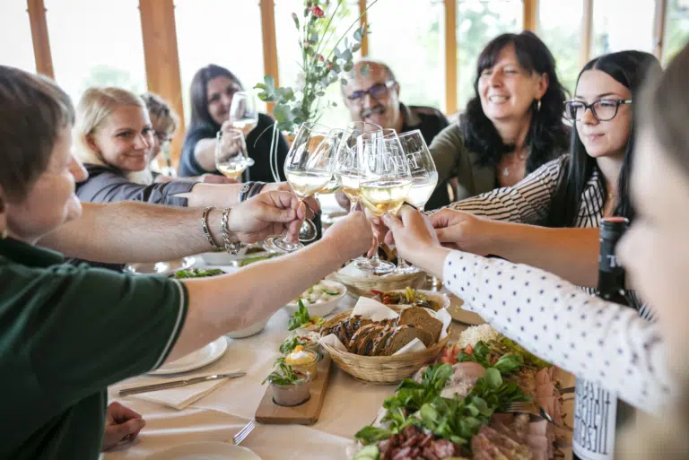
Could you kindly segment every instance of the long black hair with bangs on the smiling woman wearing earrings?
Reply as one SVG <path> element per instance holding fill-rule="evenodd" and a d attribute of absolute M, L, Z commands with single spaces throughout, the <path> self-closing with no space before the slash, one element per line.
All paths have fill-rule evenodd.
<path fill-rule="evenodd" d="M 502 156 L 513 152 L 514 144 L 502 142 L 493 122 L 484 114 L 478 95 L 478 81 L 483 71 L 493 67 L 502 49 L 512 45 L 524 70 L 533 74 L 548 75 L 548 89 L 541 98 L 531 104 L 531 124 L 526 144 L 530 148 L 527 171 L 531 172 L 567 150 L 568 128 L 563 125 L 565 91 L 555 73 L 555 59 L 545 43 L 536 34 L 523 31 L 519 34 L 504 33 L 491 40 L 478 56 L 474 81 L 475 97 L 467 103 L 467 109 L 459 117 L 462 138 L 469 152 L 478 156 L 480 166 L 495 167 Z"/>

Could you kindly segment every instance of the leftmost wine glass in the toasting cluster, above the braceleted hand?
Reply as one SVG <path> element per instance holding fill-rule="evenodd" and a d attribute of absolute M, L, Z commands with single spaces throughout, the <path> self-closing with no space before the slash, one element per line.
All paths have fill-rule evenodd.
<path fill-rule="evenodd" d="M 317 123 L 302 123 L 299 127 L 284 161 L 284 175 L 299 201 L 318 192 L 330 182 L 340 135 L 341 131 Z M 304 247 L 301 243 L 291 243 L 280 235 L 268 237 L 266 246 L 277 252 L 292 252 Z"/>

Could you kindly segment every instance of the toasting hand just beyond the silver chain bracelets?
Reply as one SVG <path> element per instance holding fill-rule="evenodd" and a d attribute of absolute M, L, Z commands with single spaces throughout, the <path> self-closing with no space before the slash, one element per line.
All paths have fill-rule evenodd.
<path fill-rule="evenodd" d="M 285 230 L 287 239 L 294 242 L 299 239 L 301 223 L 313 216 L 296 195 L 264 192 L 232 208 L 228 227 L 243 243 L 262 241 Z"/>

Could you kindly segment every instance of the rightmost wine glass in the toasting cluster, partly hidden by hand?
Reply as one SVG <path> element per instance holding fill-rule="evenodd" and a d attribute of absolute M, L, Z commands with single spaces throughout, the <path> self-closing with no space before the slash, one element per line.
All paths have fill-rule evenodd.
<path fill-rule="evenodd" d="M 409 163 L 409 172 L 412 174 L 412 187 L 406 195 L 406 202 L 414 205 L 423 213 L 423 207 L 431 198 L 435 186 L 438 184 L 438 171 L 435 162 L 428 150 L 428 145 L 421 135 L 421 131 L 415 129 L 397 136 L 402 150 L 405 152 L 406 161 Z M 397 256 L 397 273 L 415 273 L 418 268 L 408 265 L 406 260 Z"/>

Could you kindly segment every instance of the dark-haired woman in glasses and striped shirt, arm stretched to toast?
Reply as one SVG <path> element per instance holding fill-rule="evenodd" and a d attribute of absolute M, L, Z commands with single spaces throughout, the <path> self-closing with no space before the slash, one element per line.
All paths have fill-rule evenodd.
<path fill-rule="evenodd" d="M 566 115 L 574 121 L 570 154 L 546 163 L 514 187 L 433 214 L 440 241 L 595 287 L 600 219 L 634 218 L 629 194 L 632 105 L 644 76 L 659 68 L 658 59 L 641 51 L 590 61 L 579 75 L 574 99 L 566 104 Z"/>

